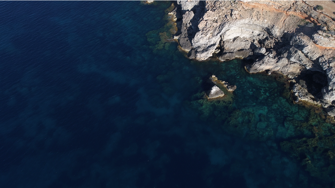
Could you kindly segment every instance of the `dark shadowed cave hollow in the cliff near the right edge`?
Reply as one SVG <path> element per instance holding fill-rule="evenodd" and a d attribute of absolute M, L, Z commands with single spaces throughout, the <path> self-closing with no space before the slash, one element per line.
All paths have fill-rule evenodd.
<path fill-rule="evenodd" d="M 321 89 L 327 86 L 327 75 L 319 71 L 305 70 L 298 76 L 299 84 L 307 88 L 315 98 L 322 98 Z"/>

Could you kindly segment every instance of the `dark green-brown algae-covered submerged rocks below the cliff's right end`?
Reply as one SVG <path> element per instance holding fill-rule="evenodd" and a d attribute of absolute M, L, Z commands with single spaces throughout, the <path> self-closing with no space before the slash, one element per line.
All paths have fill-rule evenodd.
<path fill-rule="evenodd" d="M 295 157 L 312 176 L 327 181 L 334 180 L 334 124 L 327 123 L 324 114 L 311 109 L 308 122 L 297 125 L 298 129 L 305 131 L 305 136 L 281 142 L 281 149 Z"/>

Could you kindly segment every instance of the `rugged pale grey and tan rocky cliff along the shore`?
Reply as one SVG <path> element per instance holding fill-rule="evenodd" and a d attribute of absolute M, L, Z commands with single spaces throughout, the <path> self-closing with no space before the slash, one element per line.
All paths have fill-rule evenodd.
<path fill-rule="evenodd" d="M 285 74 L 297 101 L 335 114 L 335 19 L 330 14 L 306 1 L 177 1 L 172 13 L 175 38 L 190 59 L 250 59 L 250 73 Z M 316 71 L 326 78 L 319 79 L 322 83 L 314 78 Z"/>

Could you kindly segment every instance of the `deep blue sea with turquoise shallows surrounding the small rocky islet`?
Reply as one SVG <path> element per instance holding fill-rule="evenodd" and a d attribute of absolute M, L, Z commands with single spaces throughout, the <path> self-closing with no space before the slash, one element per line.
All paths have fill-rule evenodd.
<path fill-rule="evenodd" d="M 1 3 L 1 187 L 314 181 L 279 147 L 309 115 L 283 83 L 240 60 L 190 61 L 176 43 L 154 50 L 146 34 L 170 5 Z M 203 99 L 212 74 L 237 85 L 230 100 Z"/>

